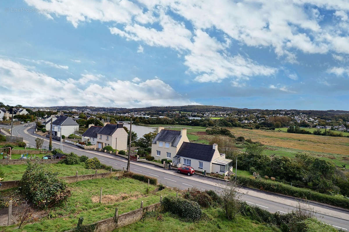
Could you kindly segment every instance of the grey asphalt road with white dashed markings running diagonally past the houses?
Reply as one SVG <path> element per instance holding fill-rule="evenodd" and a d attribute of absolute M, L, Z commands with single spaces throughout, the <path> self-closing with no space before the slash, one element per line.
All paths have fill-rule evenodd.
<path fill-rule="evenodd" d="M 30 127 L 28 129 L 28 134 L 24 132 L 25 129 L 28 129 L 28 126 L 24 126 L 24 125 L 15 126 L 13 130 L 13 136 L 23 137 L 23 139 L 26 140 L 28 144 L 35 146 L 35 139 L 36 137 L 39 137 L 39 136 L 37 134 L 34 134 L 34 127 Z M 46 148 L 48 148 L 49 139 L 48 138 L 44 138 L 44 139 L 45 141 L 44 141 L 43 147 L 46 146 Z M 53 140 L 52 147 L 59 148 L 59 141 Z M 120 156 L 116 157 L 115 155 L 112 155 L 112 154 L 83 150 L 75 145 L 66 144 L 66 143 L 63 143 L 63 150 L 65 153 L 74 152 L 78 155 L 89 156 L 90 158 L 97 157 L 102 163 L 111 165 L 115 169 L 123 169 L 123 168 L 126 169 L 127 160 Z M 217 187 L 216 184 L 225 184 L 224 180 L 216 180 L 212 178 L 202 177 L 199 175 L 187 177 L 185 175 L 178 174 L 174 170 L 164 170 L 163 168 L 153 164 L 148 164 L 148 163 L 139 164 L 140 162 L 137 162 L 136 164 L 135 163 L 136 162 L 131 162 L 131 165 L 130 165 L 131 171 L 135 173 L 156 177 L 159 183 L 164 184 L 166 186 L 170 186 L 170 187 L 177 187 L 182 190 L 187 189 L 188 187 L 189 188 L 196 187 L 200 190 L 214 190 L 216 192 L 219 192 L 221 188 Z M 281 214 L 288 213 L 296 209 L 294 206 L 297 205 L 297 202 L 302 202 L 299 199 L 291 198 L 288 196 L 281 196 L 279 194 L 258 191 L 258 190 L 250 189 L 247 187 L 245 187 L 244 189 L 248 191 L 253 191 L 254 193 L 260 192 L 260 196 L 263 196 L 263 198 L 248 195 L 248 194 L 242 194 L 240 196 L 241 200 L 246 201 L 248 204 L 258 206 L 262 209 L 268 210 L 269 212 L 273 212 L 273 213 L 274 212 L 279 212 Z M 270 200 L 273 198 L 278 198 L 278 199 L 281 198 L 282 200 L 281 201 L 279 200 L 279 202 Z M 288 203 L 291 202 L 291 204 L 287 204 L 286 202 Z M 337 229 L 349 231 L 349 211 L 338 209 L 331 206 L 324 206 L 322 204 L 318 204 L 314 202 L 309 202 L 309 207 L 321 209 L 320 210 L 321 212 L 329 212 L 329 213 L 315 212 L 315 216 L 322 223 L 332 225 Z M 338 215 L 338 214 L 340 214 L 341 216 L 340 217 L 331 216 L 331 215 Z"/>

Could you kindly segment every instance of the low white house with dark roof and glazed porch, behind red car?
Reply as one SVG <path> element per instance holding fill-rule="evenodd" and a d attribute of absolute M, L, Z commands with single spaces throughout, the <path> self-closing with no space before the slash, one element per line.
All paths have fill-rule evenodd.
<path fill-rule="evenodd" d="M 219 153 L 217 144 L 183 142 L 172 164 L 178 168 L 190 166 L 196 171 L 206 170 L 207 173 L 226 176 L 232 172 L 232 162 L 225 158 L 225 154 Z"/>

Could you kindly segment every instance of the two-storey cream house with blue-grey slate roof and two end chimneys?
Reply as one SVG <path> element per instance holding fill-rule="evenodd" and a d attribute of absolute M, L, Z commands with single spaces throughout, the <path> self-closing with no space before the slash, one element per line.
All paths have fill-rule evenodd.
<path fill-rule="evenodd" d="M 154 156 L 155 160 L 172 160 L 183 142 L 189 142 L 186 129 L 175 131 L 159 127 L 158 134 L 151 144 L 151 156 Z"/>

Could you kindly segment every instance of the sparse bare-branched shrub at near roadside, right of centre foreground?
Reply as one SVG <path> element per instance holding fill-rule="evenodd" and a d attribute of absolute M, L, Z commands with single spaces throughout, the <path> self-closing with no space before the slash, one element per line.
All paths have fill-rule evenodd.
<path fill-rule="evenodd" d="M 229 220 L 235 218 L 235 216 L 240 212 L 241 203 L 240 203 L 240 194 L 237 192 L 238 183 L 237 181 L 232 181 L 225 185 L 220 195 L 222 197 L 222 208 L 225 211 L 225 216 Z"/>

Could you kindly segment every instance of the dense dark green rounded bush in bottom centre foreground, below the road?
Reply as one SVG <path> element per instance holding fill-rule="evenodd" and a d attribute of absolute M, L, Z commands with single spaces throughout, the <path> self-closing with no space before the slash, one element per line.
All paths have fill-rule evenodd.
<path fill-rule="evenodd" d="M 176 198 L 175 196 L 165 196 L 161 202 L 165 211 L 177 214 L 185 221 L 197 221 L 202 215 L 202 211 L 198 202 L 190 201 L 184 198 Z"/>

